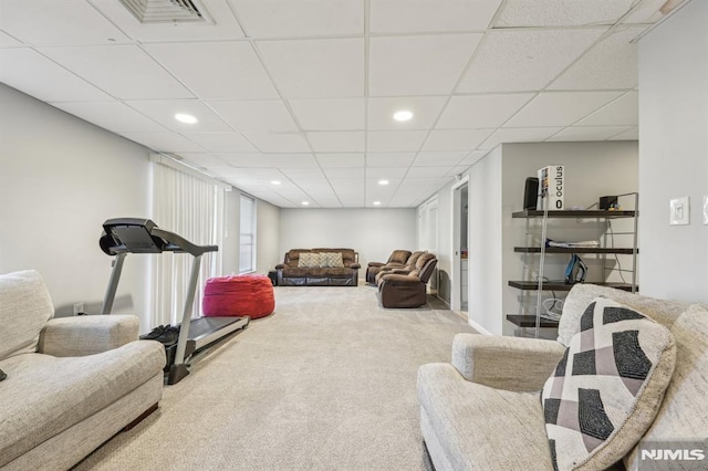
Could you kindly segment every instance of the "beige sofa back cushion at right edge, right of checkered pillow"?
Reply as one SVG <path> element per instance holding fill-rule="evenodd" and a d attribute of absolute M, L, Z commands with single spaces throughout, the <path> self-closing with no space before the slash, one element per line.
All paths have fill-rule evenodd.
<path fill-rule="evenodd" d="M 705 447 L 708 437 L 708 307 L 689 306 L 674 323 L 671 335 L 676 342 L 674 376 L 652 427 L 625 460 L 628 470 L 650 462 L 642 460 L 642 448 L 662 449 L 673 443 L 690 450 Z M 702 463 L 687 463 L 686 469 L 705 469 L 706 462 L 708 457 Z M 652 469 L 660 464 L 656 461 Z"/>

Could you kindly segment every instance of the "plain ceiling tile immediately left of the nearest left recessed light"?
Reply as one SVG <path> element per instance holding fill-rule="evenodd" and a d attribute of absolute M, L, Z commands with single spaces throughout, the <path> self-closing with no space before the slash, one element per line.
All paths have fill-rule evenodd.
<path fill-rule="evenodd" d="M 167 130 L 121 102 L 60 102 L 52 105 L 114 133 Z"/>

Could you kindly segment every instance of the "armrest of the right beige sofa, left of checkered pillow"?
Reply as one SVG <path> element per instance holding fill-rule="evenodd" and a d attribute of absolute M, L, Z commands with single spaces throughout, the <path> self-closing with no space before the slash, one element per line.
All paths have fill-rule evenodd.
<path fill-rule="evenodd" d="M 452 366 L 468 381 L 511 391 L 537 391 L 563 357 L 555 341 L 457 334 Z"/>

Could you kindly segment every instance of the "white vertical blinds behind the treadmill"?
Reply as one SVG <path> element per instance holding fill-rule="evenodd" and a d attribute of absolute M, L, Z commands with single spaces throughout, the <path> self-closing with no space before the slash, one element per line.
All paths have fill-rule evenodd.
<path fill-rule="evenodd" d="M 225 190 L 208 177 L 199 178 L 171 166 L 153 164 L 153 220 L 199 245 L 222 247 Z M 207 252 L 201 268 L 192 317 L 201 315 L 201 295 L 209 278 L 221 273 L 221 252 Z M 194 258 L 164 252 L 152 261 L 153 327 L 181 322 Z"/>

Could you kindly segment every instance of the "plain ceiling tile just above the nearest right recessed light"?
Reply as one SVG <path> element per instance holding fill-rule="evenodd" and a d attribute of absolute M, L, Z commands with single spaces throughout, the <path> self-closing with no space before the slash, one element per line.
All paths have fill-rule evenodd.
<path fill-rule="evenodd" d="M 372 38 L 369 96 L 448 94 L 481 34 Z"/>

